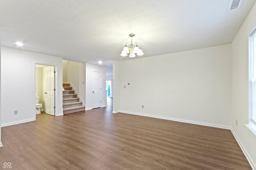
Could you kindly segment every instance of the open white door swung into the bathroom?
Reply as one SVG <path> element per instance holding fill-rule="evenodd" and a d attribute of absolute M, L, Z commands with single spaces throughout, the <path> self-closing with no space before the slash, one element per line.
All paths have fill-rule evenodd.
<path fill-rule="evenodd" d="M 46 67 L 46 113 L 55 115 L 55 74 L 54 67 Z"/>

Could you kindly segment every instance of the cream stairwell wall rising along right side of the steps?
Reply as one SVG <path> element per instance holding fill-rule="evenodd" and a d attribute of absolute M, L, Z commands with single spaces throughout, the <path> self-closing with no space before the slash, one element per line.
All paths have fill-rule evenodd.
<path fill-rule="evenodd" d="M 80 102 L 85 103 L 85 64 L 70 61 L 67 66 L 68 81 L 72 84 L 73 90 L 79 94 Z"/>

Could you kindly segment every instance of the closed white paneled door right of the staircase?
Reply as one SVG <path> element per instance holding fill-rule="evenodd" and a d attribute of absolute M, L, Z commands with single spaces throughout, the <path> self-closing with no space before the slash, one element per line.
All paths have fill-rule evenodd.
<path fill-rule="evenodd" d="M 101 72 L 92 71 L 92 109 L 100 107 Z"/>

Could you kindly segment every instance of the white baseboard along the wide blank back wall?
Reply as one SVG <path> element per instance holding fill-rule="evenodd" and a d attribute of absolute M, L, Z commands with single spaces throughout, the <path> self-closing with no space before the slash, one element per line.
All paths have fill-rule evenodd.
<path fill-rule="evenodd" d="M 178 121 L 178 122 L 183 122 L 183 123 L 191 123 L 191 124 L 195 124 L 195 125 L 203 125 L 203 126 L 209 126 L 209 127 L 217 127 L 217 128 L 221 128 L 221 129 L 230 129 L 229 126 L 216 125 L 216 124 L 211 124 L 211 123 L 203 123 L 203 122 L 189 121 L 189 120 L 183 120 L 183 119 L 174 119 L 174 118 L 170 118 L 170 117 L 162 117 L 162 116 L 156 116 L 156 115 L 147 115 L 147 114 L 133 113 L 133 112 L 128 112 L 128 111 L 119 111 L 119 112 L 120 112 L 120 113 L 132 114 L 132 115 L 153 117 L 153 118 L 157 118 L 157 119 L 165 119 L 165 120 L 171 120 L 171 121 Z M 112 112 L 112 113 L 113 113 L 113 112 Z"/>

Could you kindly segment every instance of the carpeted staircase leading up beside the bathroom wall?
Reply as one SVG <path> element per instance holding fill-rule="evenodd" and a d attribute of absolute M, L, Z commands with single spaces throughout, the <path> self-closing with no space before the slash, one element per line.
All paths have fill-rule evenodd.
<path fill-rule="evenodd" d="M 77 94 L 74 94 L 74 90 L 70 87 L 69 83 L 63 83 L 63 114 L 74 113 L 77 111 L 84 111 L 85 106 L 82 106 L 82 102 L 79 102 Z"/>

